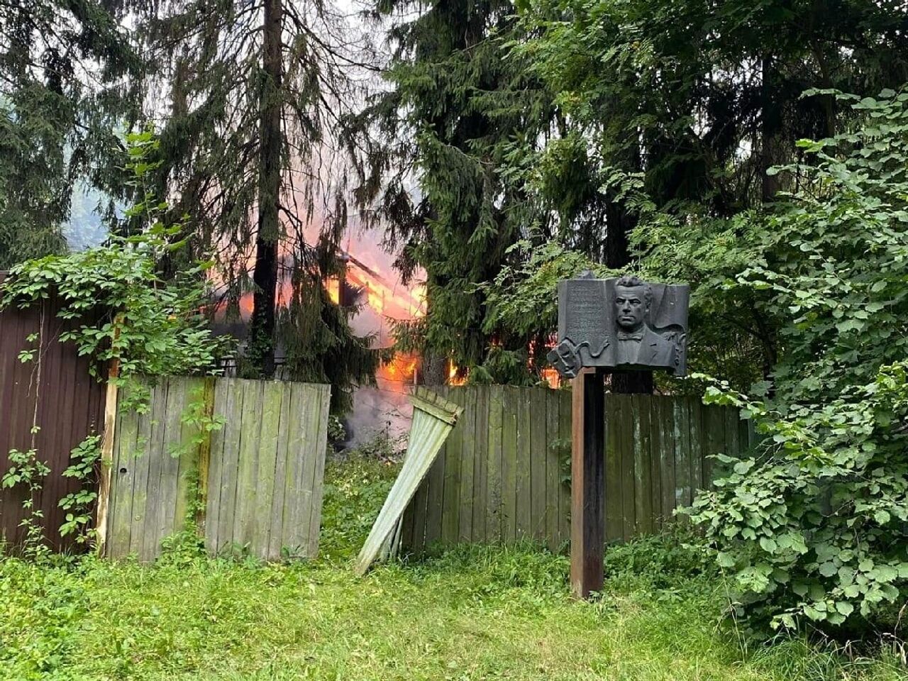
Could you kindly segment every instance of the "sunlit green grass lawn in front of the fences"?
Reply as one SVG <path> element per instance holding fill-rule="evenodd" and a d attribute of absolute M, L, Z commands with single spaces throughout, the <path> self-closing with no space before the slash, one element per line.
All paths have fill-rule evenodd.
<path fill-rule="evenodd" d="M 185 549 L 153 567 L 0 561 L 0 678 L 905 678 L 894 653 L 745 645 L 721 624 L 716 578 L 671 538 L 611 551 L 593 603 L 569 597 L 565 557 L 534 547 L 462 548 L 353 577 L 393 475 L 359 459 L 330 467 L 323 556 L 308 565 Z"/>

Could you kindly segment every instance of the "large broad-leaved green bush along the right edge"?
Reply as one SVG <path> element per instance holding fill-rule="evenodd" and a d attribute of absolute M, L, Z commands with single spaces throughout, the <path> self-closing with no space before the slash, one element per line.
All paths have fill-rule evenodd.
<path fill-rule="evenodd" d="M 775 627 L 891 626 L 908 597 L 908 93 L 840 95 L 862 123 L 802 147 L 814 165 L 761 224 L 760 255 L 727 288 L 780 325 L 766 439 L 693 518 Z"/>

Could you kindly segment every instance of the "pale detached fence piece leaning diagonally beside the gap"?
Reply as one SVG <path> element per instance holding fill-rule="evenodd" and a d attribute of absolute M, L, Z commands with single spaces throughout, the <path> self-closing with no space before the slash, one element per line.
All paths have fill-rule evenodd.
<path fill-rule="evenodd" d="M 381 507 L 379 517 L 372 525 L 369 537 L 362 545 L 360 556 L 356 560 L 355 570 L 358 575 L 365 574 L 379 555 L 382 545 L 397 526 L 401 514 L 419 488 L 419 483 L 433 464 L 438 462 L 436 457 L 439 450 L 463 411 L 459 405 L 422 388 L 415 390 L 411 400 L 413 422 L 410 426 L 407 457 Z M 443 477 L 441 480 L 443 482 Z M 440 497 L 443 501 L 443 490 Z"/>

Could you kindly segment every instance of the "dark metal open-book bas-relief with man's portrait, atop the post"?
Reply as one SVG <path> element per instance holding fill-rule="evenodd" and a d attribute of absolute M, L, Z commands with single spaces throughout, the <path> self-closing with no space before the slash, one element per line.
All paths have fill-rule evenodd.
<path fill-rule="evenodd" d="M 635 276 L 585 273 L 558 284 L 558 345 L 548 360 L 565 378 L 583 367 L 686 373 L 689 288 Z"/>

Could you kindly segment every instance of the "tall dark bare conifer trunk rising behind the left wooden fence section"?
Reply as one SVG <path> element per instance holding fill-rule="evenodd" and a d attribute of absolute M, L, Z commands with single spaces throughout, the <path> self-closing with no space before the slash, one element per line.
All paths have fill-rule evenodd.
<path fill-rule="evenodd" d="M 281 201 L 281 0 L 264 0 L 260 99 L 259 230 L 255 239 L 255 292 L 248 357 L 262 378 L 274 374 Z"/>

